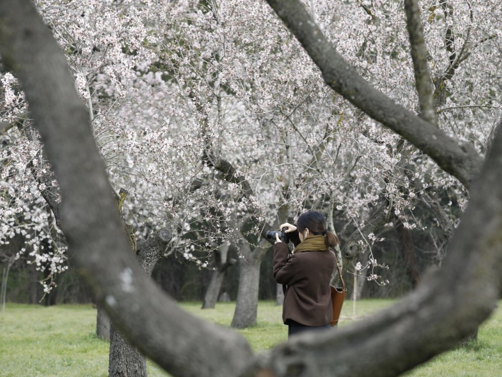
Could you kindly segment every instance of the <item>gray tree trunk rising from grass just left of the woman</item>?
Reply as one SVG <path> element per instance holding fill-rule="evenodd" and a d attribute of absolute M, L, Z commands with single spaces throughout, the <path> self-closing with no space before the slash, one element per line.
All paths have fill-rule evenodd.
<path fill-rule="evenodd" d="M 233 314 L 231 326 L 234 328 L 245 328 L 256 325 L 258 313 L 258 291 L 260 288 L 260 265 L 262 255 L 253 255 L 249 249 L 249 244 L 244 243 L 241 250 L 243 258 L 239 258 L 239 287 L 237 290 L 237 303 Z M 255 253 L 260 254 L 259 250 Z M 249 256 L 246 257 L 245 254 Z"/>

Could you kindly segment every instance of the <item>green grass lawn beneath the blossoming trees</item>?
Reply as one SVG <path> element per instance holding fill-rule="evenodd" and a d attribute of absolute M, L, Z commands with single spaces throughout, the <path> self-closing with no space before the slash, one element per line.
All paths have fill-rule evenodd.
<path fill-rule="evenodd" d="M 362 300 L 356 317 L 346 301 L 340 326 L 356 322 L 387 307 L 392 300 Z M 502 375 L 502 302 L 479 329 L 478 340 L 437 356 L 406 374 L 407 377 L 499 377 Z M 200 303 L 184 303 L 188 312 L 229 327 L 234 303 L 218 303 L 216 309 L 200 309 Z M 258 324 L 240 330 L 255 350 L 266 350 L 287 339 L 281 307 L 260 302 Z M 95 336 L 96 310 L 91 305 L 8 304 L 0 313 L 0 376 L 89 376 L 105 377 L 108 371 L 108 343 Z M 168 376 L 148 362 L 150 377 Z"/>

